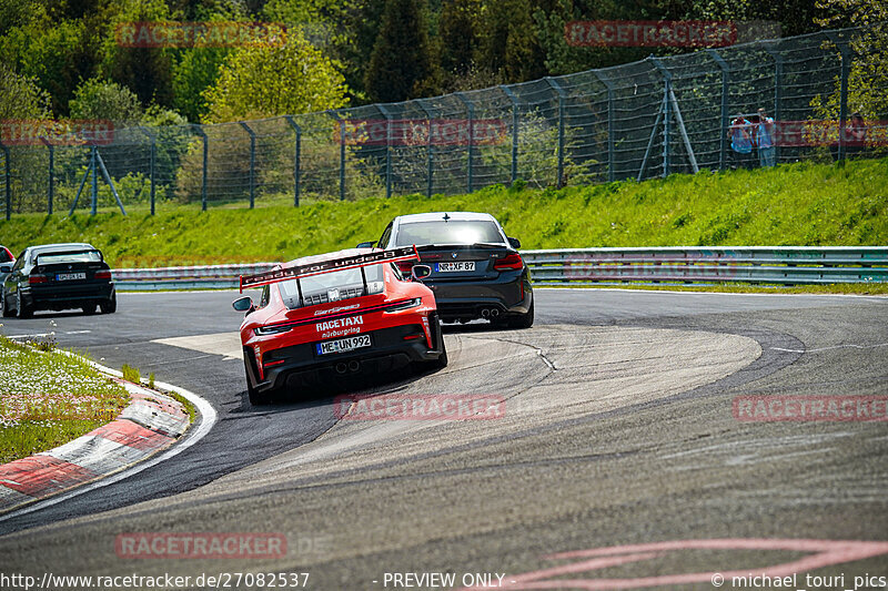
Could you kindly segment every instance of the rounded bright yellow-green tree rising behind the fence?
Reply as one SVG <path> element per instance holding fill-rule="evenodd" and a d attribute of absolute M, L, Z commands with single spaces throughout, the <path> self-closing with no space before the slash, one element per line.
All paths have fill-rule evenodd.
<path fill-rule="evenodd" d="M 337 109 L 345 84 L 336 64 L 299 31 L 276 47 L 244 47 L 223 63 L 203 96 L 208 122 L 219 123 Z"/>

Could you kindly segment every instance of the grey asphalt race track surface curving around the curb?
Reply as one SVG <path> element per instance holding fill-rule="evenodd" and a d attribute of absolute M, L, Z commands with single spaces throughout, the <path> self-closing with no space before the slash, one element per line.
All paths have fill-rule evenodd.
<path fill-rule="evenodd" d="M 393 589 L 386 573 L 405 572 L 455 573 L 456 588 L 500 573 L 513 589 L 714 589 L 713 572 L 787 564 L 845 575 L 800 574 L 799 589 L 888 578 L 888 543 L 851 543 L 888 541 L 888 422 L 733 412 L 737 396 L 888 394 L 888 298 L 536 296 L 532 329 L 450 327 L 447 369 L 360 390 L 503 397 L 493 420 L 340 420 L 331 396 L 253 408 L 232 293 L 4 319 L 7 335 L 53 330 L 103 365 L 153 371 L 219 421 L 169 461 L 0 521 L 0 573 L 299 571 L 309 589 Z M 121 558 L 130 532 L 282 533 L 287 551 Z M 856 588 L 888 587 L 869 582 Z"/>

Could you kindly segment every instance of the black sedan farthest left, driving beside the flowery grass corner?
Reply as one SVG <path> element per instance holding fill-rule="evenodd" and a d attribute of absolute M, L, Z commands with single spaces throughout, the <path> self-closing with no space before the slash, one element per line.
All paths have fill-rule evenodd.
<path fill-rule="evenodd" d="M 3 316 L 30 317 L 39 309 L 117 310 L 111 268 L 91 244 L 44 244 L 21 253 L 3 281 Z"/>

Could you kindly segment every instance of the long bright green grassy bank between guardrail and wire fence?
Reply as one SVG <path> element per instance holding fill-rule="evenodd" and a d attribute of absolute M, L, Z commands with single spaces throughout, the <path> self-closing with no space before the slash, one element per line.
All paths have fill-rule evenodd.
<path fill-rule="evenodd" d="M 563 190 L 521 184 L 301 207 L 200 212 L 161 203 L 155 216 L 14 215 L 0 222 L 0 244 L 18 254 L 31 244 L 91 242 L 115 267 L 287 261 L 375 240 L 392 217 L 430 211 L 490 212 L 524 248 L 888 244 L 888 159 Z"/>

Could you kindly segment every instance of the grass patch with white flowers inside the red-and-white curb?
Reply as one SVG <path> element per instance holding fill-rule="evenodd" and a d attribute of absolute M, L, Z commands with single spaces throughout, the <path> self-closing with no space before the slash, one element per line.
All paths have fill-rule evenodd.
<path fill-rule="evenodd" d="M 0 336 L 0 463 L 77 439 L 130 401 L 85 360 L 41 349 Z"/>

